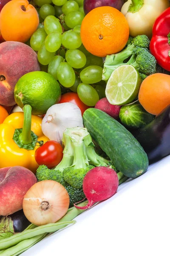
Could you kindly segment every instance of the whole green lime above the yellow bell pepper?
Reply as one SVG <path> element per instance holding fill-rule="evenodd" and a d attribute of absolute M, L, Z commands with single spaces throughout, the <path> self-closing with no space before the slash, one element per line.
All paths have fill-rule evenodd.
<path fill-rule="evenodd" d="M 34 71 L 22 76 L 15 85 L 14 98 L 17 105 L 31 105 L 34 115 L 45 114 L 59 102 L 61 88 L 53 76 L 43 71 Z"/>

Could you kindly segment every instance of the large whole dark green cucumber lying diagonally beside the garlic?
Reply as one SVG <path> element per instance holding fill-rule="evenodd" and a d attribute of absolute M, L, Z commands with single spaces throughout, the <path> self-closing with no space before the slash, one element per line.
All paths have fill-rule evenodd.
<path fill-rule="evenodd" d="M 147 154 L 123 125 L 96 108 L 84 112 L 83 122 L 91 137 L 125 176 L 136 178 L 147 171 Z"/>

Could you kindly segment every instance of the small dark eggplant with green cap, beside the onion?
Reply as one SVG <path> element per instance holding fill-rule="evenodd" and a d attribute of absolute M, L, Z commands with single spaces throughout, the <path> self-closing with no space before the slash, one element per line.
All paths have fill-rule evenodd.
<path fill-rule="evenodd" d="M 31 224 L 24 215 L 23 210 L 14 212 L 8 216 L 0 216 L 0 239 L 20 233 Z"/>

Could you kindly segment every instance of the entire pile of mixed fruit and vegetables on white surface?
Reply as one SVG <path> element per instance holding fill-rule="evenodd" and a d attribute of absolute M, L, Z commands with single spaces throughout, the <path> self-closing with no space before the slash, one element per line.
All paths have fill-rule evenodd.
<path fill-rule="evenodd" d="M 0 0 L 0 254 L 170 155 L 169 0 Z"/>

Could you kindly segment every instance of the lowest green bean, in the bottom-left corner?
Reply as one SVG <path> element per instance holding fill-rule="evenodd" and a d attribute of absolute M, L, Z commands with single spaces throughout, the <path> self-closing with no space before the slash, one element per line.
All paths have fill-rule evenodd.
<path fill-rule="evenodd" d="M 0 256 L 17 256 L 18 254 L 28 250 L 34 244 L 42 240 L 45 236 L 47 236 L 47 233 L 21 241 L 17 245 L 4 250 L 3 253 L 0 253 Z"/>

